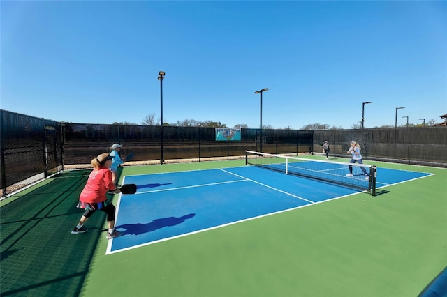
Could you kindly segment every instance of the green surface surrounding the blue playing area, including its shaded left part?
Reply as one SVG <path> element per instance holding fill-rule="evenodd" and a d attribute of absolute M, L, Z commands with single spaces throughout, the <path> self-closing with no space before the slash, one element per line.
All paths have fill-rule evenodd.
<path fill-rule="evenodd" d="M 365 163 L 434 175 L 108 255 L 105 214 L 70 233 L 90 170 L 57 174 L 1 201 L 1 296 L 422 296 L 447 266 L 447 170 Z"/>

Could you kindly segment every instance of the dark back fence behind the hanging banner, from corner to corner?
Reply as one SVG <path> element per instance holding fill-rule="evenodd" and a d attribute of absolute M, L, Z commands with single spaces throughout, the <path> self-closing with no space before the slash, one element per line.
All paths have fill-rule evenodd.
<path fill-rule="evenodd" d="M 114 143 L 123 144 L 122 155 L 133 153 L 133 161 L 178 160 L 244 156 L 260 147 L 258 129 L 242 129 L 240 141 L 216 141 L 215 128 L 161 127 L 152 125 L 91 125 L 64 123 L 64 165 L 85 164 Z M 312 131 L 265 130 L 263 151 L 302 153 L 312 148 Z"/>

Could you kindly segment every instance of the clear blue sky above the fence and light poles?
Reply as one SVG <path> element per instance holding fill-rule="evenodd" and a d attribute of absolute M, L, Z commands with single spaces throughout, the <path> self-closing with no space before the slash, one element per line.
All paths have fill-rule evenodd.
<path fill-rule="evenodd" d="M 447 1 L 0 1 L 1 109 L 365 128 L 447 114 Z"/>

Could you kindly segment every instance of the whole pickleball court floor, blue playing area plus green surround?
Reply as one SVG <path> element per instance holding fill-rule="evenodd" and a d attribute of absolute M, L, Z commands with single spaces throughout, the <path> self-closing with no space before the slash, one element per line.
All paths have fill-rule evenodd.
<path fill-rule="evenodd" d="M 112 241 L 103 214 L 70 234 L 89 170 L 64 172 L 2 201 L 1 295 L 425 294 L 447 265 L 446 169 L 375 163 L 376 196 L 242 160 L 125 167 L 138 192 L 115 195 Z"/>

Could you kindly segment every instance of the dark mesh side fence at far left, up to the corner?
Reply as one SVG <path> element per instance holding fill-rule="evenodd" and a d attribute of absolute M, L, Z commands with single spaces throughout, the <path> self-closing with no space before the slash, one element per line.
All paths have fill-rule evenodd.
<path fill-rule="evenodd" d="M 0 123 L 2 197 L 62 168 L 59 123 L 4 110 Z"/>

